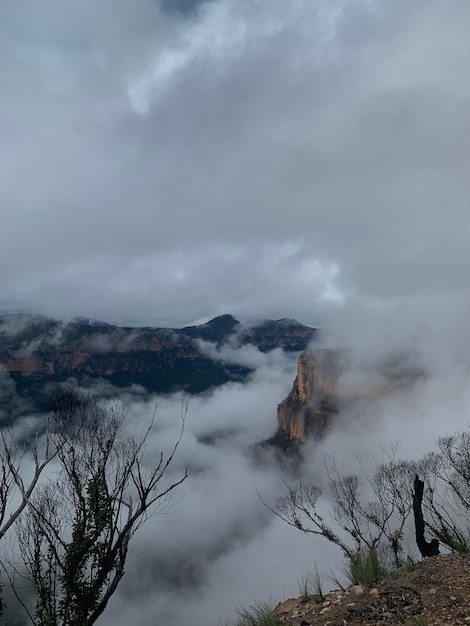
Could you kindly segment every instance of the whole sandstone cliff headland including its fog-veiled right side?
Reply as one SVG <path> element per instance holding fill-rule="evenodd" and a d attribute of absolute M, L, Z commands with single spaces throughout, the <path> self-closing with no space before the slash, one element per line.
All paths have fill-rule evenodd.
<path fill-rule="evenodd" d="M 427 377 L 419 354 L 390 352 L 369 359 L 350 350 L 311 347 L 298 359 L 297 377 L 278 405 L 278 429 L 272 439 L 281 447 L 318 440 L 339 423 L 381 411 L 383 402 L 408 393 Z"/>

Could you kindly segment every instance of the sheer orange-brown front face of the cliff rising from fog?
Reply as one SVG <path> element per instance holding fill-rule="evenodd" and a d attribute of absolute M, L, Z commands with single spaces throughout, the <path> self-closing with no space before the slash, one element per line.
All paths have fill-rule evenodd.
<path fill-rule="evenodd" d="M 282 442 L 318 438 L 338 412 L 337 383 L 342 351 L 313 349 L 298 360 L 291 392 L 277 408 Z"/>

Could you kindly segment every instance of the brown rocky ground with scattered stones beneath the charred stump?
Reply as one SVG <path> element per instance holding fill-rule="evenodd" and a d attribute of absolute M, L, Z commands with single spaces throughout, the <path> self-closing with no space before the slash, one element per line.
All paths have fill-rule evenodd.
<path fill-rule="evenodd" d="M 286 626 L 470 625 L 470 556 L 439 555 L 374 585 L 279 604 Z"/>

